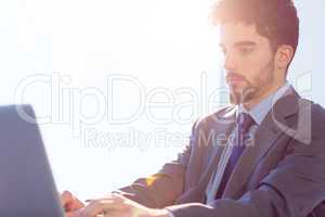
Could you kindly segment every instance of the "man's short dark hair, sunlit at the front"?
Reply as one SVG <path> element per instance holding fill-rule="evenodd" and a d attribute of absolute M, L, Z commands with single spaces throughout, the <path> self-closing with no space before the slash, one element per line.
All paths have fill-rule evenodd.
<path fill-rule="evenodd" d="M 212 11 L 212 22 L 255 24 L 258 34 L 266 37 L 273 51 L 287 44 L 297 50 L 299 18 L 292 0 L 220 0 Z"/>

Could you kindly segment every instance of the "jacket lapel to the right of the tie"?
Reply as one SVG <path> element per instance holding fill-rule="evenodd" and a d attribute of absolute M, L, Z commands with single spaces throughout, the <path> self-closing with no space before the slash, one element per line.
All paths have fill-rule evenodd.
<path fill-rule="evenodd" d="M 277 126 L 278 123 L 286 124 L 286 117 L 297 113 L 299 99 L 297 95 L 296 92 L 285 94 L 265 116 L 256 131 L 251 145 L 245 149 L 238 159 L 222 197 L 233 197 L 240 192 L 248 182 L 256 165 L 276 143 L 277 139 L 285 133 Z"/>

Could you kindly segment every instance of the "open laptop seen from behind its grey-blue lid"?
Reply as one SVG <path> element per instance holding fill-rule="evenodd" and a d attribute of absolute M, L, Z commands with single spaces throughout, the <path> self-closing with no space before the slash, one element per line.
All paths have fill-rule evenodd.
<path fill-rule="evenodd" d="M 0 106 L 0 216 L 64 216 L 30 105 Z"/>

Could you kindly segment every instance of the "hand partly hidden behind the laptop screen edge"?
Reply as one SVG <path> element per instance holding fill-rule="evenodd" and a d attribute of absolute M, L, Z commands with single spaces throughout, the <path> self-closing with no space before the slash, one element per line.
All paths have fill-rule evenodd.
<path fill-rule="evenodd" d="M 60 200 L 62 206 L 64 207 L 66 217 L 77 216 L 80 208 L 84 207 L 84 204 L 68 191 L 64 191 L 60 195 Z"/>

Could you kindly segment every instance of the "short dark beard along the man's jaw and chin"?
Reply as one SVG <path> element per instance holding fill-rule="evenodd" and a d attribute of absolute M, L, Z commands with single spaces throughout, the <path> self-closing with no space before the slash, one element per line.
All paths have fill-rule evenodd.
<path fill-rule="evenodd" d="M 258 75 L 252 81 L 243 77 L 243 87 L 236 85 L 230 87 L 230 102 L 232 104 L 243 104 L 257 99 L 265 89 L 272 86 L 274 81 L 274 59 L 262 67 Z"/>

